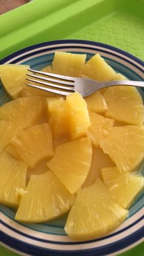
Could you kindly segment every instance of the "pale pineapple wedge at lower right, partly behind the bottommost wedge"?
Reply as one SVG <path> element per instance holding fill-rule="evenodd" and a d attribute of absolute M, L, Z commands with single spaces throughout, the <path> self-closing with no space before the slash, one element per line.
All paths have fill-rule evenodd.
<path fill-rule="evenodd" d="M 111 196 L 123 208 L 129 208 L 144 187 L 144 177 L 129 172 L 121 174 L 117 167 L 103 168 L 101 173 Z"/>

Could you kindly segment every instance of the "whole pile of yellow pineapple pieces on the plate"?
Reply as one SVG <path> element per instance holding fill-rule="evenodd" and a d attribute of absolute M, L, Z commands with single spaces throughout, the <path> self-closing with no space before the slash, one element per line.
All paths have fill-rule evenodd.
<path fill-rule="evenodd" d="M 97 81 L 126 79 L 96 54 L 56 52 L 43 71 Z M 0 108 L 0 203 L 20 222 L 70 212 L 73 240 L 99 238 L 127 218 L 144 186 L 144 106 L 135 87 L 115 86 L 87 98 L 56 97 L 25 86 L 26 65 L 1 65 L 13 98 Z"/>

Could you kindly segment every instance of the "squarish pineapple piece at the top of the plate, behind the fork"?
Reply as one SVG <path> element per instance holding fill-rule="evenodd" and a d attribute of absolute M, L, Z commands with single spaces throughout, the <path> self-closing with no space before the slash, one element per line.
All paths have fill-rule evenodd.
<path fill-rule="evenodd" d="M 52 61 L 52 71 L 65 76 L 81 76 L 86 54 L 63 53 L 56 51 Z"/>

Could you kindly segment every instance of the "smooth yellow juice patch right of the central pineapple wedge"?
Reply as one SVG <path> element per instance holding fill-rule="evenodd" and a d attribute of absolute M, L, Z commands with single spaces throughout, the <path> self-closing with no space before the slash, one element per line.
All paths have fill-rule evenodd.
<path fill-rule="evenodd" d="M 92 163 L 87 175 L 87 179 L 82 187 L 85 188 L 90 186 L 93 184 L 96 178 L 101 178 L 101 169 L 103 167 L 112 166 L 115 166 L 115 163 L 112 162 L 109 155 L 105 154 L 102 148 L 93 146 Z"/>

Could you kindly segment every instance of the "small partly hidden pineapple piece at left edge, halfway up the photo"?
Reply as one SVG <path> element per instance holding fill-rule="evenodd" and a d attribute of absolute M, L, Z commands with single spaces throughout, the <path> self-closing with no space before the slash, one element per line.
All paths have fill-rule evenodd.
<path fill-rule="evenodd" d="M 16 125 L 9 121 L 0 120 L 0 152 L 9 145 L 15 132 Z"/>

